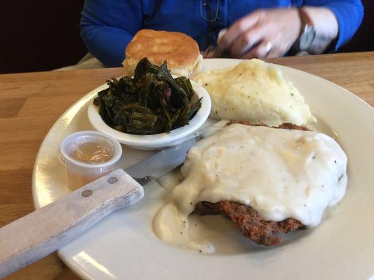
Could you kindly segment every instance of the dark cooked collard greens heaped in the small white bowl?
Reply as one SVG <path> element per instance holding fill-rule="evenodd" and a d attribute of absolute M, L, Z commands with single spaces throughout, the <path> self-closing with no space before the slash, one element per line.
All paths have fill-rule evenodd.
<path fill-rule="evenodd" d="M 145 57 L 134 77 L 107 80 L 109 87 L 98 92 L 104 122 L 130 134 L 157 134 L 187 125 L 201 107 L 201 99 L 188 78 L 173 78 L 166 62 L 156 66 Z"/>

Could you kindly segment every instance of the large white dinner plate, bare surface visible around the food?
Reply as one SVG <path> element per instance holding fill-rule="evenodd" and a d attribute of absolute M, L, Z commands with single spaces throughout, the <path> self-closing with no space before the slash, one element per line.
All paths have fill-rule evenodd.
<path fill-rule="evenodd" d="M 205 69 L 238 63 L 208 59 Z M 374 279 L 374 110 L 347 90 L 309 73 L 280 66 L 319 120 L 314 127 L 335 137 L 348 156 L 345 198 L 311 230 L 298 230 L 275 248 L 254 245 L 221 216 L 203 225 L 218 251 L 203 254 L 164 244 L 152 231 L 154 214 L 168 191 L 145 187 L 133 207 L 116 211 L 58 251 L 84 279 Z M 39 149 L 32 188 L 36 208 L 66 195 L 65 170 L 58 161 L 60 141 L 72 132 L 93 130 L 88 102 L 106 85 L 82 97 L 53 125 Z M 123 146 L 121 167 L 153 152 Z"/>

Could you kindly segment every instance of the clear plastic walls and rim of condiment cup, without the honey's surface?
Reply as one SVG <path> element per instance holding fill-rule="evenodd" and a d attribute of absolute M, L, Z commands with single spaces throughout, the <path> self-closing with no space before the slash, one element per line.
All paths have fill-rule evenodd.
<path fill-rule="evenodd" d="M 87 142 L 106 145 L 112 151 L 112 158 L 107 162 L 98 164 L 81 162 L 72 158 L 73 151 Z M 58 158 L 66 167 L 67 186 L 76 190 L 112 172 L 121 159 L 121 155 L 122 147 L 119 141 L 101 132 L 81 131 L 69 134 L 61 142 Z"/>

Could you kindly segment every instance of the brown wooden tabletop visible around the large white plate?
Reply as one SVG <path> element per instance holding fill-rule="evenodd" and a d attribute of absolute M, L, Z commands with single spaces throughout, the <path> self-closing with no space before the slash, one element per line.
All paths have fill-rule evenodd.
<path fill-rule="evenodd" d="M 374 52 L 271 59 L 326 78 L 374 106 Z M 32 168 L 58 117 L 93 88 L 123 69 L 0 75 L 0 226 L 34 210 Z M 55 253 L 6 279 L 79 279 Z"/>

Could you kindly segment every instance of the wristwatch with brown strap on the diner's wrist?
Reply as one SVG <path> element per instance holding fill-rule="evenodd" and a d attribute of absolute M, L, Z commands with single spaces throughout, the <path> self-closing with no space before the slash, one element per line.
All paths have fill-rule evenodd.
<path fill-rule="evenodd" d="M 295 46 L 299 51 L 304 51 L 312 45 L 314 37 L 316 36 L 316 29 L 305 10 L 298 8 L 298 12 L 301 20 L 301 31 L 298 40 L 295 42 Z"/>

